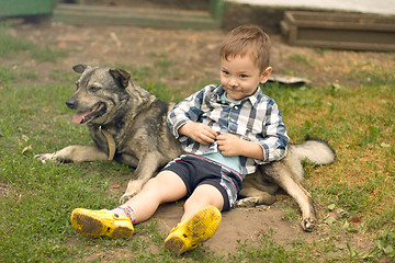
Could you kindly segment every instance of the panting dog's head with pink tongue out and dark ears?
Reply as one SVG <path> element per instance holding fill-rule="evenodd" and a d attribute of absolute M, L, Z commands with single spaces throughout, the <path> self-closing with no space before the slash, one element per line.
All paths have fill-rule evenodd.
<path fill-rule="evenodd" d="M 115 117 L 116 111 L 128 99 L 126 87 L 131 75 L 122 69 L 76 65 L 72 69 L 81 76 L 76 81 L 77 91 L 66 101 L 70 110 L 78 111 L 72 122 L 104 125 Z"/>

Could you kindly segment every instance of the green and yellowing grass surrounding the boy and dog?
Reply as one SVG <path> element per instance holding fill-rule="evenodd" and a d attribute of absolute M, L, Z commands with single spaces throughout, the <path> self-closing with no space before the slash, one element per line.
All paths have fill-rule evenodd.
<path fill-rule="evenodd" d="M 36 59 L 36 52 L 43 50 L 2 27 L 0 48 L 0 58 L 5 59 L 21 54 Z M 48 47 L 45 53 L 49 57 L 42 57 L 49 61 L 65 56 Z M 160 99 L 181 100 L 180 90 L 160 81 L 172 73 L 171 60 L 156 59 L 153 67 L 119 66 Z M 316 64 L 303 56 L 293 59 Z M 49 78 L 55 84 L 49 85 L 41 83 L 34 71 L 0 66 L 0 262 L 100 261 L 114 255 L 119 256 L 114 262 L 394 261 L 395 81 L 390 70 L 370 64 L 359 70 L 361 65 L 353 65 L 348 78 L 369 76 L 357 87 L 264 87 L 282 108 L 292 142 L 309 135 L 328 140 L 337 151 L 334 165 L 305 165 L 319 238 L 280 244 L 273 239 L 275 232 L 268 230 L 259 233 L 258 244 L 240 240 L 237 254 L 216 254 L 202 247 L 183 256 L 161 249 L 166 233 L 158 231 L 155 220 L 136 229 L 138 238 L 127 241 L 76 236 L 69 221 L 72 208 L 116 206 L 119 195 L 109 192 L 114 182 L 126 184 L 131 169 L 116 162 L 43 165 L 34 160 L 35 153 L 90 144 L 84 126 L 70 125 L 72 113 L 64 104 L 75 75 L 54 69 Z M 199 85 L 191 80 L 189 89 Z M 283 209 L 284 220 L 297 220 L 293 201 L 286 199 Z M 365 244 L 358 245 L 360 240 Z"/>

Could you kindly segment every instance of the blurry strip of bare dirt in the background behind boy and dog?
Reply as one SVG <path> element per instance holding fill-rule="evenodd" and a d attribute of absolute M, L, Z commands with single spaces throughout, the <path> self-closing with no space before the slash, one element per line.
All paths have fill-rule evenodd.
<path fill-rule="evenodd" d="M 24 60 L 23 56 L 15 61 L 16 66 L 12 65 L 37 71 L 43 81 L 50 81 L 48 76 L 53 69 L 71 71 L 71 67 L 77 64 L 138 68 L 166 59 L 171 61 L 171 71 L 160 81 L 185 90 L 191 80 L 200 83 L 207 78 L 218 79 L 218 50 L 226 32 L 43 23 L 14 26 L 12 34 L 38 45 L 49 44 L 52 48 L 67 50 L 68 56 L 59 58 L 56 65 Z M 394 65 L 388 53 L 294 47 L 284 44 L 280 35 L 271 35 L 271 39 L 273 73 L 306 78 L 312 81 L 312 85 L 337 83 L 358 87 L 360 81 L 369 79 L 369 76 L 350 79 L 349 75 L 356 68 L 392 70 Z M 185 95 L 191 92 L 187 89 Z"/>

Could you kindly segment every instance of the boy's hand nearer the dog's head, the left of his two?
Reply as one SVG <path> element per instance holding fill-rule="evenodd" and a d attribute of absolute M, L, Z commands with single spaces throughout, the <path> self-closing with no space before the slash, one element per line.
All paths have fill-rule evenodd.
<path fill-rule="evenodd" d="M 210 145 L 215 141 L 217 133 L 202 123 L 189 122 L 179 128 L 179 134 L 185 135 L 202 145 Z"/>

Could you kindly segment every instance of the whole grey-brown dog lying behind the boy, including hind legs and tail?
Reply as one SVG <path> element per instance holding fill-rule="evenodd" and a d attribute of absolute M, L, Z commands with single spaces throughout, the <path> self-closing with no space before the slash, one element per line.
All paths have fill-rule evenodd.
<path fill-rule="evenodd" d="M 122 69 L 76 65 L 80 73 L 76 92 L 66 105 L 77 113 L 75 124 L 87 124 L 92 146 L 68 146 L 53 153 L 36 155 L 46 161 L 80 162 L 116 160 L 135 168 L 120 202 L 137 194 L 144 184 L 156 175 L 170 160 L 183 153 L 179 141 L 167 126 L 168 111 L 172 103 L 135 85 L 131 75 Z M 270 205 L 275 202 L 275 191 L 282 187 L 300 205 L 302 228 L 311 231 L 316 215 L 311 194 L 302 186 L 302 161 L 329 164 L 336 159 L 335 151 L 321 140 L 308 139 L 290 145 L 281 161 L 259 165 L 257 172 L 246 176 L 237 206 Z"/>

